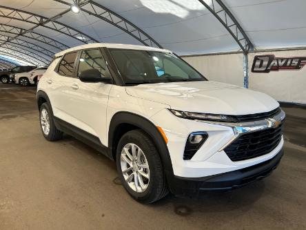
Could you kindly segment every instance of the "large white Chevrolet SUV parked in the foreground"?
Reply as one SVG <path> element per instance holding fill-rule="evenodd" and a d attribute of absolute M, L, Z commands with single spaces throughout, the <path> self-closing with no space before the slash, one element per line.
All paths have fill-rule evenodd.
<path fill-rule="evenodd" d="M 170 50 L 88 44 L 59 52 L 37 102 L 47 140 L 68 133 L 115 160 L 139 202 L 234 189 L 269 175 L 283 155 L 278 102 L 207 81 Z"/>

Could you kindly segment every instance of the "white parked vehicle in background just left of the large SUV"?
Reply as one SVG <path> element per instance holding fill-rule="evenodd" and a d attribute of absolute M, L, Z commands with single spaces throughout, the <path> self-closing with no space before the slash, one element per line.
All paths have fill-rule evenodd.
<path fill-rule="evenodd" d="M 14 77 L 15 84 L 20 84 L 21 86 L 35 85 L 37 86 L 37 77 L 45 73 L 45 70 L 48 69 L 48 66 L 43 66 L 35 68 L 26 73 L 17 73 Z"/>

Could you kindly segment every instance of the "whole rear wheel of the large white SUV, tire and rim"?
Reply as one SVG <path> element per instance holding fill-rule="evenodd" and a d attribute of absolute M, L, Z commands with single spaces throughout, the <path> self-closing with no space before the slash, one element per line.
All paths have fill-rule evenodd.
<path fill-rule="evenodd" d="M 41 105 L 39 110 L 41 131 L 45 139 L 49 141 L 61 140 L 63 132 L 59 131 L 54 124 L 54 118 L 47 102 Z"/>

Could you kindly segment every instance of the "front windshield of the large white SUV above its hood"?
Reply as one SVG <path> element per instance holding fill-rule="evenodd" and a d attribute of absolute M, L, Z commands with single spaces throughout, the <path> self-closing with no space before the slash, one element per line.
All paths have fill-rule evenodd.
<path fill-rule="evenodd" d="M 125 84 L 206 81 L 205 77 L 169 52 L 110 49 Z"/>

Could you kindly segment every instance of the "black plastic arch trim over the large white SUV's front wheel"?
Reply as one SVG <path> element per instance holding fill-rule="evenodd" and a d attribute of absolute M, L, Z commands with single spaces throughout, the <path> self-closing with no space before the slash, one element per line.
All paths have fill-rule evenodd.
<path fill-rule="evenodd" d="M 154 142 L 159 152 L 165 171 L 173 174 L 172 162 L 167 144 L 163 140 L 159 130 L 149 119 L 130 112 L 118 112 L 112 117 L 110 122 L 110 127 L 108 129 L 108 146 L 112 151 L 114 160 L 116 159 L 116 146 L 120 138 L 124 133 L 133 129 L 141 129 L 151 137 L 151 140 Z"/>

